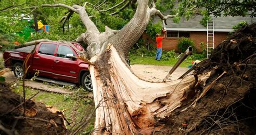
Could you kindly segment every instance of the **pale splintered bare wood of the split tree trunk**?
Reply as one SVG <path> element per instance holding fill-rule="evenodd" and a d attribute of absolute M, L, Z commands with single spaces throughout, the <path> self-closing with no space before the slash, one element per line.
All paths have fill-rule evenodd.
<path fill-rule="evenodd" d="M 96 67 L 90 66 L 96 106 L 94 134 L 144 133 L 159 130 L 154 118 L 164 118 L 181 105 L 183 93 L 194 82 L 193 76 L 166 83 L 139 79 L 111 46 L 110 79 L 102 81 Z M 205 75 L 206 76 L 206 75 Z M 199 76 L 199 79 L 205 76 Z M 207 76 L 208 77 L 208 76 Z"/>

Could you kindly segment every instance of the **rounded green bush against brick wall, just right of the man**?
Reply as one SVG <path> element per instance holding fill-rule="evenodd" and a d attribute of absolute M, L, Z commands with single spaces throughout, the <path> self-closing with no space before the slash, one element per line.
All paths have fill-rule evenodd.
<path fill-rule="evenodd" d="M 193 52 L 196 52 L 196 48 L 194 47 L 194 42 L 188 38 L 181 38 L 178 41 L 178 50 L 181 53 L 184 53 L 186 49 L 191 46 L 193 48 Z"/>

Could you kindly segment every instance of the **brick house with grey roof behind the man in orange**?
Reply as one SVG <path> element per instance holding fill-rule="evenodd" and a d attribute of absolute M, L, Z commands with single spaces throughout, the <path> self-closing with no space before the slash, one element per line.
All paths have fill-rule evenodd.
<path fill-rule="evenodd" d="M 167 20 L 166 30 L 167 38 L 163 40 L 163 49 L 177 51 L 178 39 L 181 37 L 190 38 L 194 41 L 195 47 L 198 51 L 201 51 L 200 42 L 207 43 L 207 27 L 200 24 L 202 16 L 196 16 L 189 20 L 181 18 L 180 22 L 173 23 L 172 19 Z M 154 22 L 161 21 L 158 17 L 154 19 Z M 232 27 L 237 25 L 241 21 L 246 21 L 248 24 L 256 22 L 256 18 L 251 17 L 213 17 L 214 24 L 214 46 L 217 46 L 227 38 L 229 32 L 232 32 Z M 147 38 L 147 35 L 143 34 L 143 38 Z M 153 42 L 149 40 L 149 42 Z M 155 43 L 154 43 L 155 44 Z"/>

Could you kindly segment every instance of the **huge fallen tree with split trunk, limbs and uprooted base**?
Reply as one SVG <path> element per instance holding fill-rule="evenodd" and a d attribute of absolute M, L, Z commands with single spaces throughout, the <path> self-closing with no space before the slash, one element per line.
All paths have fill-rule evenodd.
<path fill-rule="evenodd" d="M 204 120 L 210 125 L 204 127 L 204 132 L 211 133 L 216 125 L 219 127 L 217 130 L 224 129 L 227 125 L 221 126 L 217 120 L 224 118 L 223 122 L 226 122 L 227 114 L 224 111 L 221 116 L 219 110 L 230 108 L 232 104 L 241 101 L 248 91 L 255 90 L 255 74 L 250 74 L 255 73 L 255 68 L 252 68 L 255 65 L 255 24 L 251 26 L 253 30 L 247 31 L 251 35 L 243 34 L 244 40 L 227 39 L 218 46 L 212 54 L 212 64 L 206 69 L 176 81 L 149 82 L 133 74 L 125 62 L 128 51 L 142 35 L 152 15 L 158 15 L 163 20 L 173 16 L 163 16 L 154 3 L 149 7 L 147 0 L 137 3 L 136 13 L 122 30 L 111 30 L 106 26 L 105 32 L 99 32 L 87 15 L 87 2 L 84 6 L 42 5 L 68 8 L 79 14 L 86 27 L 86 32 L 75 41 L 88 45 L 86 53 L 79 59 L 90 63 L 96 106 L 95 129 L 92 133 L 200 132 L 204 127 Z M 242 49 L 244 42 L 250 43 L 245 50 Z M 251 51 L 247 52 L 248 50 Z M 233 59 L 234 56 L 237 59 Z M 219 83 L 223 80 L 225 83 Z M 227 96 L 231 88 L 232 93 Z M 185 118 L 187 116 L 190 118 Z M 238 122 L 237 120 L 239 126 Z M 234 122 L 230 123 L 232 124 Z"/>

